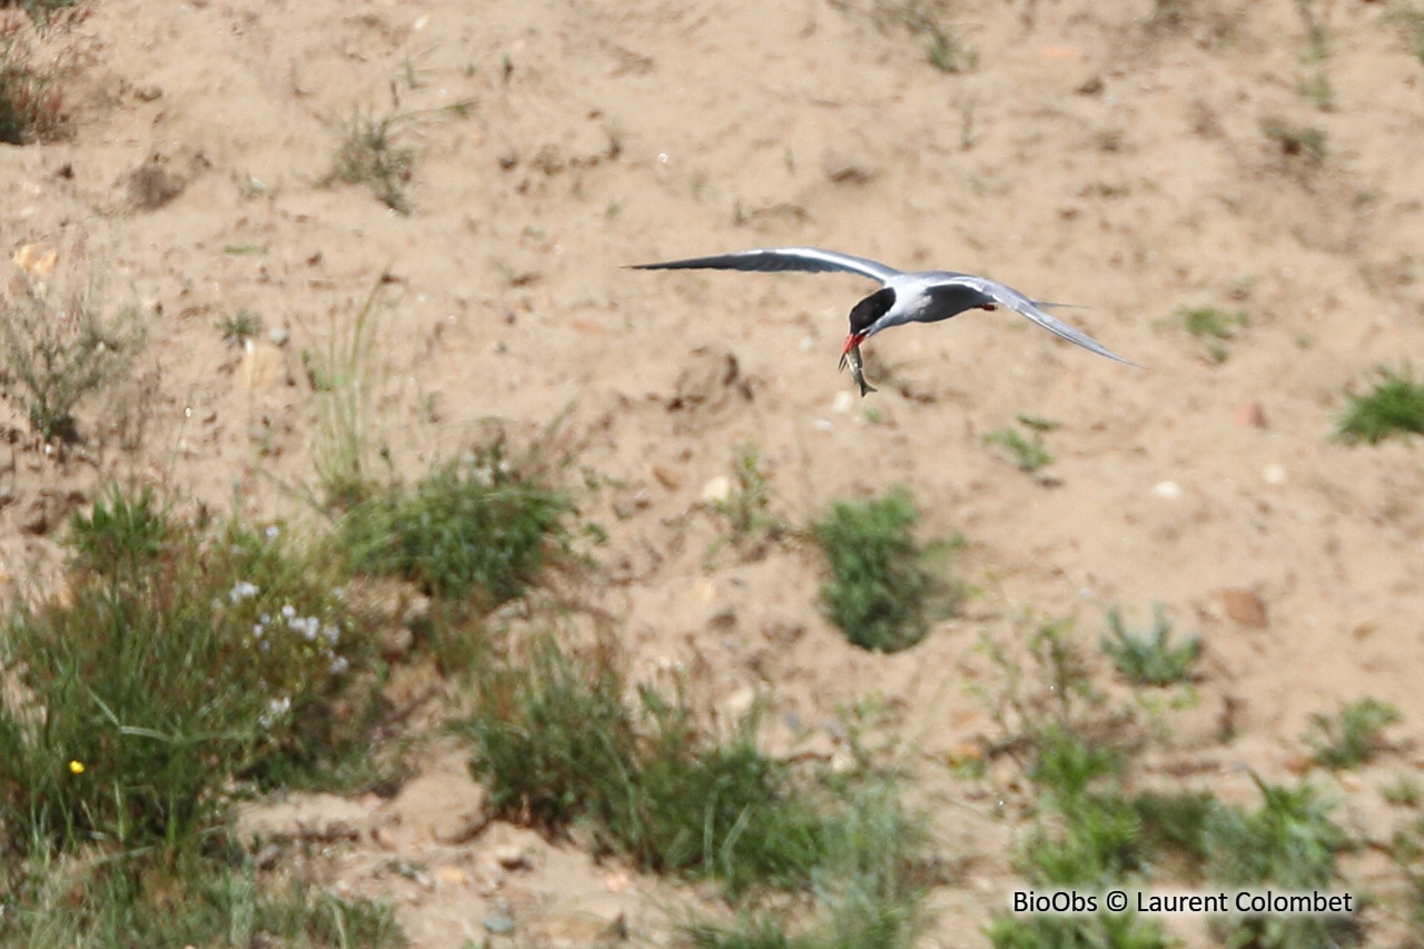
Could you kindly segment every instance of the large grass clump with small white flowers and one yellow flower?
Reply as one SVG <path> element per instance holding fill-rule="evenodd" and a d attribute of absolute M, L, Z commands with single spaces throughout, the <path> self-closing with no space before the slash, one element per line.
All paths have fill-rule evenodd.
<path fill-rule="evenodd" d="M 144 493 L 75 516 L 67 590 L 21 604 L 0 665 L 0 835 L 174 848 L 241 782 L 320 772 L 370 722 L 376 657 L 276 527 L 177 522 Z"/>

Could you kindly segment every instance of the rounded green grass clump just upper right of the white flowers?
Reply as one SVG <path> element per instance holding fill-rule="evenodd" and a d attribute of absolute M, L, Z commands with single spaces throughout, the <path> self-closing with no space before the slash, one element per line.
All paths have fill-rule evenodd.
<path fill-rule="evenodd" d="M 498 442 L 410 489 L 369 493 L 339 526 L 349 567 L 410 580 L 446 600 L 513 600 L 571 553 L 572 496 L 537 466 L 511 463 Z"/>

